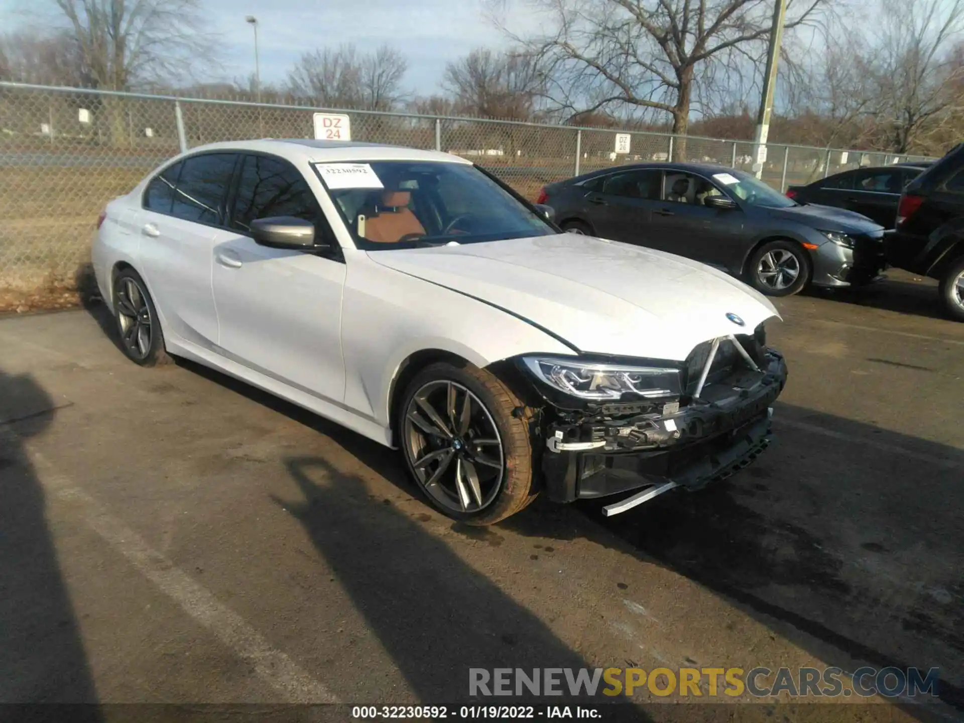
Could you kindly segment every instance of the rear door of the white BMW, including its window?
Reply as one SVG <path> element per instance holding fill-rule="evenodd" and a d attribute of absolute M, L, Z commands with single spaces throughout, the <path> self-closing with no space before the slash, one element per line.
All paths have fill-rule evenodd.
<path fill-rule="evenodd" d="M 211 249 L 236 160 L 236 153 L 201 153 L 155 176 L 140 218 L 143 273 L 165 334 L 208 349 L 218 339 Z"/>

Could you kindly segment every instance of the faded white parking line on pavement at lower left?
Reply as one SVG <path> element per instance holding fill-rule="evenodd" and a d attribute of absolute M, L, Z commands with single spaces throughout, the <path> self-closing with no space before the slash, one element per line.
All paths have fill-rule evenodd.
<path fill-rule="evenodd" d="M 14 447 L 23 441 L 9 427 L 0 427 L 0 438 Z M 26 453 L 26 450 L 25 450 Z M 85 522 L 120 552 L 142 575 L 174 600 L 191 618 L 210 630 L 235 655 L 249 661 L 254 673 L 283 696 L 286 703 L 337 703 L 327 687 L 314 680 L 290 657 L 273 648 L 260 633 L 160 552 L 151 549 L 134 530 L 110 515 L 94 497 L 59 474 L 44 457 L 32 450 L 30 461 L 46 474 L 42 484 L 62 499 L 77 503 Z"/>

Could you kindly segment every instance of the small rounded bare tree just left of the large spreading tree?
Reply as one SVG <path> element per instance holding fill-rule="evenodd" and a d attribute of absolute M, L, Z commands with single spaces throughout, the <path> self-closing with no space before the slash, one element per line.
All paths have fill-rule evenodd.
<path fill-rule="evenodd" d="M 445 66 L 442 88 L 454 97 L 460 113 L 529 120 L 545 82 L 531 55 L 476 48 Z"/>

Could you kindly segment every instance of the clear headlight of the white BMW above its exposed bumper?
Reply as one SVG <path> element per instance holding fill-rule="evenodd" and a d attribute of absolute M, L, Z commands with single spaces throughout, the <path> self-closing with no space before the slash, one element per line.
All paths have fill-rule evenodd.
<path fill-rule="evenodd" d="M 522 362 L 549 387 L 579 399 L 619 401 L 624 394 L 647 399 L 680 394 L 679 369 L 553 357 L 523 357 Z"/>

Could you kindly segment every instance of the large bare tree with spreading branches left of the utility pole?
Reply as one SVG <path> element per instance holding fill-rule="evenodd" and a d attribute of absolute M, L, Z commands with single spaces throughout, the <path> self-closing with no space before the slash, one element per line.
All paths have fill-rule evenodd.
<path fill-rule="evenodd" d="M 555 104 L 572 112 L 629 106 L 669 114 L 681 134 L 701 77 L 710 79 L 711 64 L 724 58 L 743 55 L 755 64 L 773 11 L 772 0 L 528 2 L 551 30 L 511 37 L 545 63 Z M 812 19 L 824 2 L 790 0 L 786 27 Z"/>

